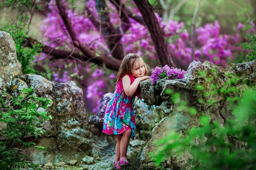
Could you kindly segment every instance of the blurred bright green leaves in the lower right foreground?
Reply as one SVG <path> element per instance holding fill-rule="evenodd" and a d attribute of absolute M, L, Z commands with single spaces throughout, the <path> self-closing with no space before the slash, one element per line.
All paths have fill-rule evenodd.
<path fill-rule="evenodd" d="M 209 124 L 210 117 L 203 116 L 200 119 L 202 126 L 192 128 L 186 137 L 171 132 L 159 141 L 164 146 L 155 156 L 156 163 L 161 163 L 174 152 L 177 155 L 190 152 L 193 169 L 253 169 L 256 161 L 255 95 L 255 90 L 244 92 L 234 109 L 235 118 L 227 120 L 225 126 L 218 121 Z M 194 142 L 195 139 L 203 141 L 205 137 L 205 143 Z"/>

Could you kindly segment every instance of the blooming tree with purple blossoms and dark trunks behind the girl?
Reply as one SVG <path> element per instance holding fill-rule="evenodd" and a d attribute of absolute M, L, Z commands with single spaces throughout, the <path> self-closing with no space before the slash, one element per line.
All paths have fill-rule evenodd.
<path fill-rule="evenodd" d="M 30 37 L 26 43 L 44 45 L 36 61 L 53 61 L 47 64 L 55 81 L 80 76 L 94 111 L 101 96 L 113 90 L 109 82 L 115 82 L 115 71 L 127 53 L 139 53 L 152 68 L 167 64 L 186 70 L 192 62 L 184 23 L 163 20 L 147 0 L 87 0 L 80 10 L 68 1 L 50 0 L 47 11 L 41 25 L 43 43 Z M 250 24 L 247 31 L 255 32 Z M 238 24 L 236 35 L 220 34 L 218 21 L 197 28 L 194 59 L 227 66 L 237 51 L 244 50 L 237 46 L 243 41 L 243 27 Z"/>

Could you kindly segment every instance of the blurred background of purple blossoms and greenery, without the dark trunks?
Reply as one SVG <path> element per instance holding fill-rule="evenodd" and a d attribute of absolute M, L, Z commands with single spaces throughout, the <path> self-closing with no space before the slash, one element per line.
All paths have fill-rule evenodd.
<path fill-rule="evenodd" d="M 121 2 L 130 9 L 133 16 L 141 16 L 135 1 Z M 80 42 L 94 52 L 94 56 L 87 60 L 79 59 L 86 54 L 72 43 L 70 32 L 63 24 L 54 0 L 0 0 L 0 30 L 9 32 L 16 42 L 22 73 L 40 74 L 56 82 L 75 81 L 83 88 L 86 106 L 89 113 L 93 114 L 102 95 L 114 91 L 117 73 L 117 69 L 94 62 L 94 59 L 102 55 L 118 59 L 118 55 L 113 55 L 115 47 L 108 45 L 107 39 L 111 34 L 103 35 L 90 16 L 100 22 L 104 10 L 99 11 L 95 6 L 105 5 L 110 23 L 117 30 L 123 23 L 118 17 L 120 11 L 114 5 L 117 2 L 119 1 L 64 2 L 63 7 Z M 200 4 L 194 33 L 195 57 L 191 58 L 192 21 L 198 2 Z M 255 59 L 254 0 L 148 0 L 148 3 L 152 5 L 164 30 L 164 38 L 172 57 L 184 62 L 185 67 L 192 59 L 210 61 L 223 67 L 231 62 Z M 159 62 L 159 55 L 147 27 L 131 18 L 132 16 L 130 27 L 124 33 L 121 31 L 120 43 L 124 49 L 124 54 L 120 54 L 121 58 L 126 53 L 139 53 L 151 72 L 155 66 L 163 64 Z M 52 54 L 53 50 L 47 47 L 69 50 L 69 53 L 56 58 Z M 253 55 L 249 53 L 251 57 L 247 56 L 248 52 Z"/>

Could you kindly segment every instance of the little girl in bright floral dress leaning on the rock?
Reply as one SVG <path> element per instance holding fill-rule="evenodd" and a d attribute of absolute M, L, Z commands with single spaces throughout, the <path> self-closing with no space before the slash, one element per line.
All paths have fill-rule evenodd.
<path fill-rule="evenodd" d="M 148 70 L 139 54 L 127 54 L 117 73 L 114 97 L 105 110 L 102 132 L 115 134 L 117 138 L 114 167 L 128 165 L 126 152 L 129 139 L 135 139 L 135 114 L 132 108 L 135 96 L 140 97 L 139 82 L 148 79 Z"/>

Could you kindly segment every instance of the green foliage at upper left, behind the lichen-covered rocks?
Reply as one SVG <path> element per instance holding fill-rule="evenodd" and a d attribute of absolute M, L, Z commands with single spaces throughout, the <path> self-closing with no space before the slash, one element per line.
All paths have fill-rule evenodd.
<path fill-rule="evenodd" d="M 73 0 L 74 1 L 74 0 Z M 40 9 L 40 5 L 34 0 L 5 0 L 0 1 L 0 7 L 8 7 L 17 11 L 16 21 L 9 22 L 9 24 L 1 26 L 1 31 L 8 32 L 13 38 L 16 45 L 17 59 L 21 63 L 21 71 L 23 74 L 38 74 L 50 79 L 52 73 L 49 69 L 46 73 L 34 69 L 34 60 L 40 52 L 42 46 L 40 44 L 31 44 L 28 46 L 27 38 L 29 38 L 29 25 L 33 17 L 32 10 Z"/>

